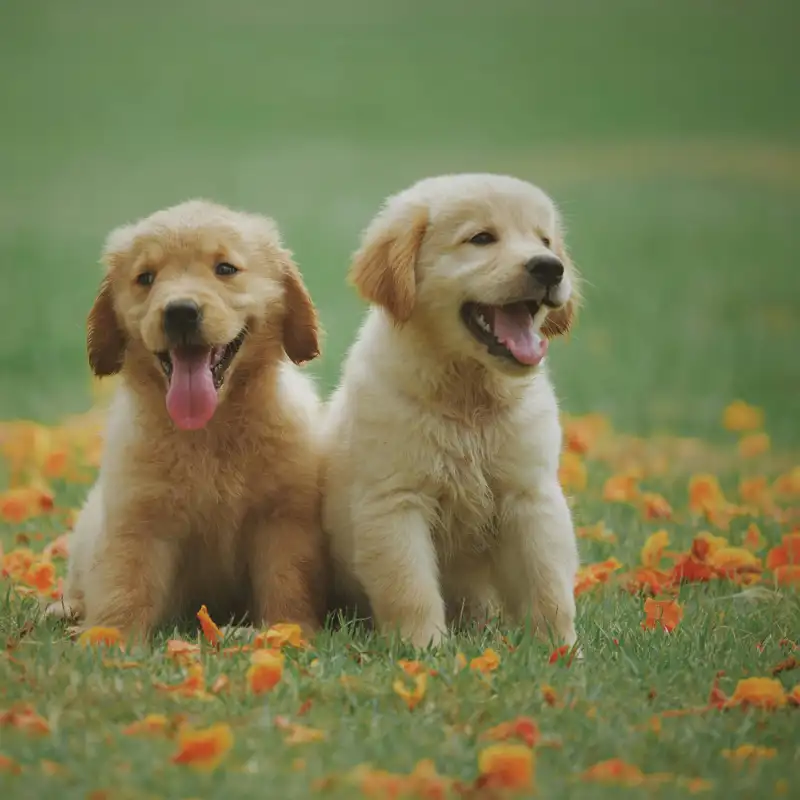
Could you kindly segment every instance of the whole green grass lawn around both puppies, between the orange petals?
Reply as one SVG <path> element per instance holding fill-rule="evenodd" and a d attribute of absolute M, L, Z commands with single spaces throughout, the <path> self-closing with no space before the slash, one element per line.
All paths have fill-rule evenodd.
<path fill-rule="evenodd" d="M 644 521 L 601 499 L 619 455 L 590 452 L 576 519 L 604 520 L 619 543 L 582 541 L 585 562 L 634 567 L 658 527 L 688 548 L 709 526 L 686 513 L 694 472 L 719 474 L 735 498 L 742 477 L 772 479 L 800 460 L 795 3 L 7 0 L 0 16 L 0 419 L 57 423 L 88 407 L 85 317 L 103 238 L 191 196 L 277 219 L 327 330 L 311 367 L 327 392 L 363 312 L 344 280 L 349 255 L 381 199 L 425 175 L 491 170 L 556 198 L 588 282 L 574 335 L 552 351 L 562 406 L 648 437 L 671 465 L 648 472 L 645 486 L 672 502 L 674 518 Z M 720 415 L 737 397 L 766 412 L 764 457 L 732 455 Z M 679 458 L 658 434 L 711 444 Z M 74 507 L 86 487 L 54 488 L 60 507 Z M 57 519 L 0 522 L 5 552 L 20 533 L 41 550 L 63 530 Z M 749 521 L 714 532 L 739 544 Z M 757 522 L 774 546 L 797 520 Z M 36 738 L 0 726 L 0 754 L 23 768 L 0 772 L 3 797 L 306 797 L 315 780 L 356 764 L 407 773 L 425 757 L 471 781 L 480 734 L 519 714 L 560 743 L 538 752 L 540 797 L 617 794 L 577 780 L 614 756 L 712 781 L 713 796 L 771 796 L 800 766 L 796 709 L 639 727 L 702 705 L 718 670 L 727 694 L 741 678 L 768 676 L 790 655 L 780 640 L 800 635 L 798 594 L 786 589 L 683 587 L 684 619 L 663 635 L 641 630 L 641 598 L 601 588 L 580 599 L 585 663 L 550 666 L 550 645 L 521 631 L 504 631 L 513 651 L 499 633 L 476 632 L 423 657 L 441 674 L 413 711 L 392 691 L 396 660 L 411 654 L 363 631 L 322 635 L 260 698 L 246 690 L 247 655 L 204 655 L 209 684 L 223 671 L 228 693 L 177 700 L 153 687 L 181 674 L 163 642 L 130 653 L 135 668 L 103 666 L 40 622 L 10 581 L 0 589 L 0 635 L 14 645 L 0 656 L 0 709 L 31 702 L 52 730 Z M 491 681 L 454 672 L 457 651 L 469 659 L 487 646 L 501 656 Z M 357 681 L 344 685 L 343 674 Z M 778 679 L 789 689 L 797 675 Z M 542 684 L 560 704 L 544 702 Z M 287 746 L 274 717 L 296 720 L 308 699 L 302 721 L 328 739 Z M 170 763 L 174 741 L 121 733 L 156 712 L 228 722 L 235 745 L 224 767 L 199 774 Z M 736 769 L 721 752 L 744 743 L 777 752 Z M 68 773 L 48 775 L 43 759 Z M 324 788 L 358 796 L 346 783 Z M 688 789 L 672 780 L 627 791 Z"/>

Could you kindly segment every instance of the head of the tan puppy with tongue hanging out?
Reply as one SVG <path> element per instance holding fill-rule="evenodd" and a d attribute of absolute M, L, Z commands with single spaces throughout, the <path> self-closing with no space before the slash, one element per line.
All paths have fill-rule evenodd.
<path fill-rule="evenodd" d="M 159 386 L 179 428 L 206 425 L 236 374 L 281 347 L 295 363 L 319 352 L 311 298 L 266 217 L 189 201 L 113 231 L 104 261 L 89 364 Z"/>

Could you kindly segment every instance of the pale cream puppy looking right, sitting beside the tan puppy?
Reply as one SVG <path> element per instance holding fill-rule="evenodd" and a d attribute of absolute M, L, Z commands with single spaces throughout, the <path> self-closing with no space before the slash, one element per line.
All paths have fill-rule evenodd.
<path fill-rule="evenodd" d="M 373 307 L 325 423 L 337 595 L 416 646 L 498 605 L 572 644 L 578 554 L 544 362 L 578 274 L 552 201 L 504 176 L 423 180 L 367 228 L 351 279 Z"/>

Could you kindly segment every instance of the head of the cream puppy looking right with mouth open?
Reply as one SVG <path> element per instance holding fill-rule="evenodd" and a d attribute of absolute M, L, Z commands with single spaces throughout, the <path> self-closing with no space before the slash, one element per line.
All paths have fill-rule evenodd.
<path fill-rule="evenodd" d="M 432 347 L 514 374 L 538 366 L 579 299 L 553 202 L 500 175 L 429 178 L 391 197 L 350 277 Z"/>

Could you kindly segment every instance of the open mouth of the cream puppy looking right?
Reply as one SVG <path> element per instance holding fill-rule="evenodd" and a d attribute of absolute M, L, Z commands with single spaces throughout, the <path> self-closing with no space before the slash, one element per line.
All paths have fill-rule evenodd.
<path fill-rule="evenodd" d="M 535 300 L 520 300 L 503 306 L 464 303 L 461 319 L 490 355 L 535 367 L 547 353 L 547 339 L 539 334 L 534 324 L 541 307 Z"/>

